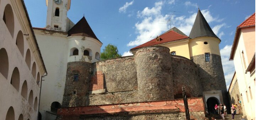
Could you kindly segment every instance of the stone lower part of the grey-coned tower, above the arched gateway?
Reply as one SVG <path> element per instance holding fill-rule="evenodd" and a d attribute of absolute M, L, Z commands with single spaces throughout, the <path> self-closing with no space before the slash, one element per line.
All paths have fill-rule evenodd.
<path fill-rule="evenodd" d="M 210 62 L 205 61 L 205 55 L 192 56 L 194 63 L 199 65 L 199 82 L 203 91 L 222 90 L 223 102 L 228 104 L 226 82 L 219 55 L 210 54 Z"/>

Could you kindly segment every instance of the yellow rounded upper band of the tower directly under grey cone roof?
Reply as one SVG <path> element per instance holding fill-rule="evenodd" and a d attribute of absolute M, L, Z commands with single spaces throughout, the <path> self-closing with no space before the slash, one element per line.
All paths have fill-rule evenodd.
<path fill-rule="evenodd" d="M 208 44 L 204 44 L 208 42 Z M 188 45 L 190 56 L 201 55 L 204 53 L 220 55 L 219 50 L 220 40 L 215 37 L 198 37 L 190 39 Z"/>

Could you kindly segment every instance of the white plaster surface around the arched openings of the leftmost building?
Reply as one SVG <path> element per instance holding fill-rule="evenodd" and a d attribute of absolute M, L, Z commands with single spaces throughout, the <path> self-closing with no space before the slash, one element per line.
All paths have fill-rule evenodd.
<path fill-rule="evenodd" d="M 9 30 L 7 29 L 2 16 L 4 14 L 4 9 L 7 4 L 10 4 L 12 7 L 12 12 L 14 14 L 14 37 L 12 38 Z M 36 120 L 38 109 L 34 110 L 34 101 L 37 97 L 37 102 L 39 102 L 39 85 L 36 83 L 36 79 L 33 78 L 31 69 L 33 62 L 36 63 L 36 77 L 37 73 L 40 73 L 40 79 L 41 76 L 44 74 L 45 70 L 41 66 L 42 61 L 38 61 L 36 58 L 40 58 L 37 54 L 38 51 L 36 51 L 36 45 L 34 44 L 34 38 L 32 31 L 30 30 L 30 26 L 28 24 L 28 20 L 25 14 L 25 10 L 23 9 L 23 5 L 21 0 L 1 0 L 0 3 L 0 49 L 5 48 L 7 55 L 8 55 L 8 61 L 9 61 L 9 70 L 8 70 L 8 77 L 7 79 L 0 73 L 0 120 L 5 120 L 7 110 L 12 106 L 14 108 L 15 113 L 15 120 L 18 119 L 20 114 L 23 115 L 23 118 L 25 120 Z M 22 31 L 23 34 L 29 34 L 29 35 L 23 35 L 24 40 L 24 56 L 21 55 L 20 50 L 16 46 L 16 37 L 18 34 L 18 31 Z M 30 49 L 31 52 L 31 67 L 28 68 L 25 57 L 26 57 L 26 51 L 27 49 Z M 40 65 L 39 65 L 40 63 Z M 14 68 L 17 67 L 18 71 L 20 73 L 20 84 L 19 84 L 19 90 L 17 91 L 14 86 L 12 86 L 11 82 L 11 76 Z M 44 70 L 44 71 L 43 71 Z M 21 96 L 21 89 L 24 81 L 27 81 L 27 98 L 23 98 Z M 33 102 L 32 105 L 28 103 L 28 96 L 30 94 L 30 91 L 33 91 Z M 38 103 L 36 103 L 36 106 L 38 108 Z"/>

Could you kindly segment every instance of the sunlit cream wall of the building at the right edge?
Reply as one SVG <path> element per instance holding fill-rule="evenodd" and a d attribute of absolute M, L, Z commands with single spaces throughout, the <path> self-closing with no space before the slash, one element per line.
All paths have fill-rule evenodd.
<path fill-rule="evenodd" d="M 237 82 L 239 85 L 239 91 L 242 94 L 242 103 L 244 103 L 242 104 L 245 108 L 244 115 L 246 115 L 248 119 L 255 119 L 255 83 L 254 80 L 250 77 L 250 72 L 245 74 L 245 70 L 248 67 L 249 63 L 247 60 L 243 34 L 242 32 L 237 34 L 240 34 L 238 37 L 238 45 L 234 54 L 234 65 L 238 79 Z M 245 63 L 242 58 L 242 51 L 244 52 Z M 244 67 L 244 64 L 246 65 L 246 68 Z M 252 92 L 252 98 L 250 96 L 249 86 Z"/>

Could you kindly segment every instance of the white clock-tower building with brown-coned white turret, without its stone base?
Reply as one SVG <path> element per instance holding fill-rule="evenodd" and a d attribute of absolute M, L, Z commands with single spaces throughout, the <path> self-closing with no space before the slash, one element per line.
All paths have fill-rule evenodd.
<path fill-rule="evenodd" d="M 100 60 L 102 43 L 85 17 L 74 24 L 68 17 L 70 0 L 46 0 L 45 28 L 33 28 L 48 75 L 44 77 L 39 112 L 42 120 L 54 120 L 63 101 L 68 62 Z"/>

